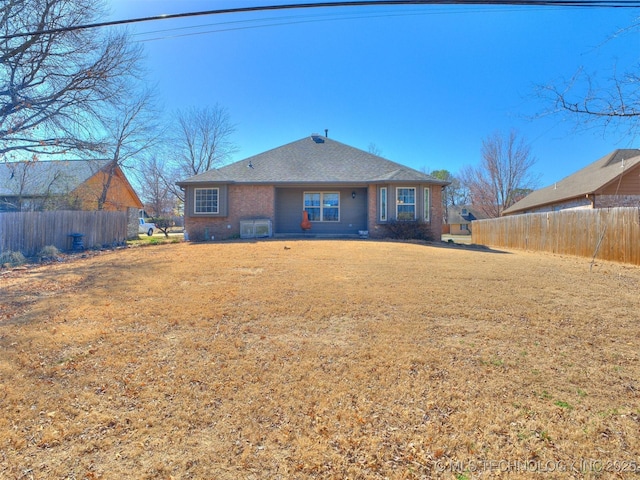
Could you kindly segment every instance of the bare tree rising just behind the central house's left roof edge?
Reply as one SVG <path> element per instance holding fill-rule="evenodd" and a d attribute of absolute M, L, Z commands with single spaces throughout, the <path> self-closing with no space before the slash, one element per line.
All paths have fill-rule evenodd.
<path fill-rule="evenodd" d="M 231 141 L 236 127 L 231 123 L 227 109 L 218 104 L 178 111 L 176 119 L 175 168 L 167 183 L 173 193 L 184 201 L 175 181 L 204 173 L 229 161 L 237 151 Z"/>

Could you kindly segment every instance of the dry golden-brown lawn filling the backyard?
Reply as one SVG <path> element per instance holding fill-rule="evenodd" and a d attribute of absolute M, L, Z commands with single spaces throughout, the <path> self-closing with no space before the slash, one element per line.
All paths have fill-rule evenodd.
<path fill-rule="evenodd" d="M 638 478 L 640 268 L 375 241 L 0 275 L 0 478 Z"/>

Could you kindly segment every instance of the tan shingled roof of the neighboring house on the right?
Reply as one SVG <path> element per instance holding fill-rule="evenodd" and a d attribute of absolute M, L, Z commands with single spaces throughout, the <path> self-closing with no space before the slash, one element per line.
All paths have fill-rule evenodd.
<path fill-rule="evenodd" d="M 503 215 L 534 207 L 584 197 L 616 181 L 623 173 L 640 165 L 639 149 L 615 150 L 587 165 L 573 175 L 540 190 L 535 190 L 519 202 L 505 209 Z"/>

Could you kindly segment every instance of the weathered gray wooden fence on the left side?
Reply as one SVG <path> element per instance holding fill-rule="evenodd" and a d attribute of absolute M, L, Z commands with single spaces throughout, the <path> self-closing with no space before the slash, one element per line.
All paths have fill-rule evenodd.
<path fill-rule="evenodd" d="M 122 244 L 127 212 L 51 211 L 0 213 L 0 252 L 36 255 L 44 246 L 72 249 L 72 233 L 82 234 L 84 248 Z"/>

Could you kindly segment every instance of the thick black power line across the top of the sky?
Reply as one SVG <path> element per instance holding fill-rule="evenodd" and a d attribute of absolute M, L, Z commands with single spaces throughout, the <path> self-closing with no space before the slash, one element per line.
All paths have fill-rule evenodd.
<path fill-rule="evenodd" d="M 334 1 L 318 3 L 294 3 L 289 5 L 263 5 L 253 7 L 224 8 L 218 10 L 205 10 L 200 12 L 173 13 L 155 15 L 151 17 L 130 18 L 125 20 L 111 20 L 108 22 L 89 23 L 86 25 L 73 25 L 68 27 L 35 30 L 31 32 L 13 33 L 1 35 L 0 40 L 10 40 L 17 37 L 32 35 L 46 35 L 52 33 L 85 30 L 89 28 L 125 25 L 131 23 L 151 22 L 157 20 L 169 20 L 177 18 L 199 17 L 205 15 L 223 15 L 229 13 L 264 12 L 274 10 L 293 10 L 307 8 L 333 8 L 333 7 L 362 7 L 362 6 L 396 6 L 396 5 L 517 5 L 517 6 L 554 6 L 554 7 L 598 7 L 598 8 L 640 8 L 640 0 L 357 0 Z"/>

